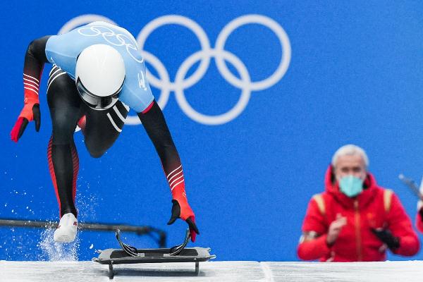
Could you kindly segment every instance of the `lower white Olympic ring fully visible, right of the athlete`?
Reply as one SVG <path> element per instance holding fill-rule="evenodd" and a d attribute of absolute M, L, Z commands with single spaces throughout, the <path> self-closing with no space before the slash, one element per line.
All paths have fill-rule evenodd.
<path fill-rule="evenodd" d="M 233 66 L 235 66 L 237 71 L 240 73 L 240 77 L 243 79 L 244 83 L 242 87 L 243 92 L 241 92 L 240 99 L 231 110 L 227 111 L 224 114 L 216 116 L 209 116 L 195 111 L 195 109 L 190 106 L 187 99 L 185 98 L 185 94 L 183 93 L 183 87 L 179 87 L 175 90 L 176 101 L 178 102 L 180 109 L 182 109 L 182 111 L 188 117 L 192 118 L 192 120 L 207 125 L 219 125 L 227 123 L 228 121 L 232 121 L 234 118 L 239 116 L 247 106 L 251 96 L 250 74 L 248 73 L 244 63 L 240 59 L 238 59 L 238 57 L 235 56 L 233 53 L 223 51 L 221 54 L 219 54 L 219 50 L 211 49 L 209 51 L 197 51 L 191 56 L 189 56 L 188 59 L 186 59 L 182 63 L 182 65 L 180 65 L 178 72 L 176 73 L 175 82 L 177 83 L 183 80 L 186 73 L 190 70 L 190 67 L 195 62 L 199 61 L 200 59 L 203 59 L 206 56 L 209 58 L 222 56 L 224 59 L 227 59 L 230 63 L 232 63 Z"/>

